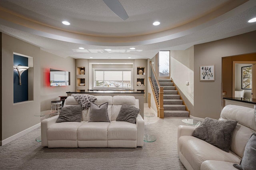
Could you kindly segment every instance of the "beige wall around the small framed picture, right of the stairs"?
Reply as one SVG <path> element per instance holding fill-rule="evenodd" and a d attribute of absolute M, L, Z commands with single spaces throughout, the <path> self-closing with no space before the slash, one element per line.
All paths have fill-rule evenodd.
<path fill-rule="evenodd" d="M 222 57 L 255 53 L 255 37 L 256 31 L 194 46 L 194 113 L 192 116 L 214 119 L 220 117 L 222 109 Z M 215 81 L 199 80 L 200 65 L 215 65 Z"/>

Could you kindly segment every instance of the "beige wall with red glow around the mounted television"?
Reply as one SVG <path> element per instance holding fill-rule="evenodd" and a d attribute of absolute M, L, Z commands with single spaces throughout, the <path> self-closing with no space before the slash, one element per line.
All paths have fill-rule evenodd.
<path fill-rule="evenodd" d="M 51 109 L 51 101 L 60 100 L 59 96 L 66 96 L 66 92 L 75 91 L 75 62 L 76 60 L 67 57 L 62 58 L 57 55 L 48 53 L 46 51 L 40 51 L 40 64 L 41 64 L 41 74 L 40 81 L 41 87 L 40 98 L 41 98 L 41 111 L 46 111 Z M 50 69 L 58 69 L 62 71 L 70 72 L 70 85 L 61 87 L 50 87 Z"/>

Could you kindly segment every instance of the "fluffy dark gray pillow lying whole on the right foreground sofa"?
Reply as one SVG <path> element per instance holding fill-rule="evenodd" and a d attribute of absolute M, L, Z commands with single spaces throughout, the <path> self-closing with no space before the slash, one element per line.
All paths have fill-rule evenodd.
<path fill-rule="evenodd" d="M 237 121 L 219 121 L 206 117 L 192 135 L 229 152 L 231 135 L 236 124 Z"/>

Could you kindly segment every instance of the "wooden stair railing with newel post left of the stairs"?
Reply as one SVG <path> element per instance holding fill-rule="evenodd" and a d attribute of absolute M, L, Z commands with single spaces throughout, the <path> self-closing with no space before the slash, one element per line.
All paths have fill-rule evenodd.
<path fill-rule="evenodd" d="M 158 111 L 157 111 L 157 116 L 159 118 L 164 118 L 164 87 L 160 86 L 160 83 L 157 79 L 156 76 L 156 71 L 154 70 L 154 67 L 152 65 L 152 62 L 150 61 L 150 73 L 151 73 L 151 77 L 149 77 L 151 79 L 152 82 L 152 91 L 155 91 L 155 101 L 156 101 L 156 105 L 158 107 Z"/>

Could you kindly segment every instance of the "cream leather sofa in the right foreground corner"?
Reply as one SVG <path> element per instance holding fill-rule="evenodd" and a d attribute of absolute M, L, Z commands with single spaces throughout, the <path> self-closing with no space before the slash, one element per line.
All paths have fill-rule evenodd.
<path fill-rule="evenodd" d="M 196 127 L 178 127 L 178 154 L 187 170 L 237 170 L 233 164 L 240 163 L 248 139 L 256 132 L 254 109 L 227 105 L 219 120 L 227 119 L 238 122 L 232 133 L 229 152 L 192 136 Z"/>

